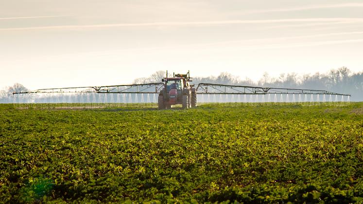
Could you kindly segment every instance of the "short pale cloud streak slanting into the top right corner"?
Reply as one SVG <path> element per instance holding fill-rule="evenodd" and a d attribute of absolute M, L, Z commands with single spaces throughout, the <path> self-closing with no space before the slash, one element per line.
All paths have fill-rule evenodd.
<path fill-rule="evenodd" d="M 340 4 L 323 4 L 323 5 L 311 5 L 302 7 L 292 7 L 292 8 L 281 8 L 281 9 L 266 9 L 266 10 L 254 10 L 247 11 L 247 14 L 259 14 L 259 13 L 272 13 L 272 12 L 290 12 L 290 11 L 304 11 L 312 9 L 325 9 L 325 8 L 355 8 L 363 7 L 363 3 L 340 3 Z"/>

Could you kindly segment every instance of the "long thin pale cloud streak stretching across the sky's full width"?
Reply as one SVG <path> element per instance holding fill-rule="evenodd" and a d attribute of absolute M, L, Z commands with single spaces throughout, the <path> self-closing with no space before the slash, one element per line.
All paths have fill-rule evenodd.
<path fill-rule="evenodd" d="M 293 22 L 363 22 L 363 18 L 286 18 L 265 20 L 217 20 L 217 21 L 184 21 L 184 22 L 149 22 L 149 23 L 115 23 L 115 24 L 93 24 L 93 25 L 60 25 L 60 26 L 38 26 L 1 28 L 0 31 L 17 30 L 44 30 L 44 29 L 87 29 L 87 28 L 112 28 L 112 27 L 153 27 L 153 26 L 212 26 L 227 24 L 267 24 L 267 23 L 293 23 Z"/>

